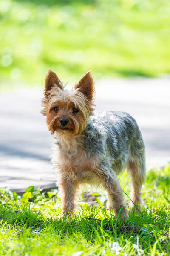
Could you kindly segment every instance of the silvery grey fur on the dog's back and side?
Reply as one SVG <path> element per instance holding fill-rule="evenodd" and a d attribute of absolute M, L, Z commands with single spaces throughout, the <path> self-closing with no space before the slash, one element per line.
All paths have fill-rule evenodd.
<path fill-rule="evenodd" d="M 144 164 L 141 132 L 135 119 L 125 112 L 96 111 L 82 135 L 89 157 L 97 155 L 104 165 L 109 160 L 115 172 L 124 169 L 129 161 Z"/>

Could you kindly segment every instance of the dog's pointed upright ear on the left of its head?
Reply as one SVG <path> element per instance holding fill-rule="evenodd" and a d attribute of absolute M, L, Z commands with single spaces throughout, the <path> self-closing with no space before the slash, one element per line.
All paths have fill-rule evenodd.
<path fill-rule="evenodd" d="M 49 91 L 52 87 L 59 87 L 63 90 L 62 82 L 59 80 L 56 73 L 54 73 L 51 69 L 48 70 L 48 73 L 45 77 L 45 87 L 44 87 L 44 95 L 48 97 Z"/>

